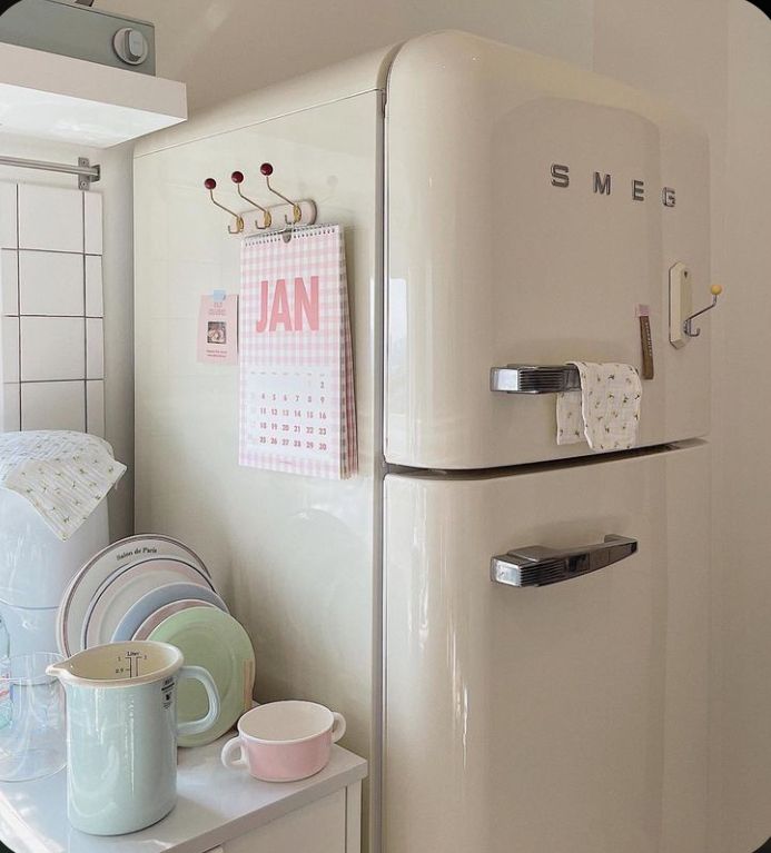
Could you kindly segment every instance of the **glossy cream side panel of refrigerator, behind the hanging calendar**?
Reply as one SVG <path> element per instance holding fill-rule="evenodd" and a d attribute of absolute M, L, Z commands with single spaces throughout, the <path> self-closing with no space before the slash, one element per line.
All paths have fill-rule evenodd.
<path fill-rule="evenodd" d="M 382 92 L 256 123 L 251 101 L 240 109 L 238 129 L 194 120 L 185 132 L 199 138 L 135 160 L 137 529 L 201 554 L 251 637 L 259 702 L 313 697 L 345 715 L 344 745 L 370 756 L 379 736 Z M 200 298 L 238 294 L 240 282 L 240 240 L 202 181 L 215 176 L 217 200 L 241 211 L 248 205 L 228 179 L 240 169 L 245 194 L 269 204 L 265 160 L 283 192 L 315 199 L 319 221 L 345 231 L 359 447 L 348 480 L 240 467 L 238 367 L 196 358 Z"/>

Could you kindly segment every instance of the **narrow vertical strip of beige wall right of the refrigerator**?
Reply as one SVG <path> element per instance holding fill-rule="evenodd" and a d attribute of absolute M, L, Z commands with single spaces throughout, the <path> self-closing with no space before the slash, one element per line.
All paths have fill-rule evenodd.
<path fill-rule="evenodd" d="M 715 360 L 715 619 L 722 654 L 724 836 L 720 853 L 771 835 L 771 26 L 729 6 L 722 346 Z"/>

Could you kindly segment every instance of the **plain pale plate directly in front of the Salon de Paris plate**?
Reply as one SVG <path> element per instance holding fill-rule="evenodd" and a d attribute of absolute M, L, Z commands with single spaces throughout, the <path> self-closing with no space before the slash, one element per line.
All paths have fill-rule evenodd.
<path fill-rule="evenodd" d="M 148 557 L 117 568 L 91 598 L 83 619 L 82 647 L 109 643 L 132 605 L 154 589 L 176 583 L 215 591 L 208 575 L 180 557 Z"/>

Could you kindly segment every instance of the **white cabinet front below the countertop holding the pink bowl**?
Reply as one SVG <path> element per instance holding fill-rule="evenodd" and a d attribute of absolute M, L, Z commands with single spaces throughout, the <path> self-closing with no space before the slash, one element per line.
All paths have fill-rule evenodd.
<path fill-rule="evenodd" d="M 345 853 L 345 790 L 229 841 L 224 853 Z"/>

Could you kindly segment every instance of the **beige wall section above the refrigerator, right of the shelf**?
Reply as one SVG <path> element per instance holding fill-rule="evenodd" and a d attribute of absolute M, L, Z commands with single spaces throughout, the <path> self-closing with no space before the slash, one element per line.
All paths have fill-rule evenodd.
<path fill-rule="evenodd" d="M 594 0 L 98 0 L 156 23 L 158 73 L 191 110 L 436 29 L 496 38 L 583 66 Z M 626 6 L 626 0 L 624 3 Z"/>

